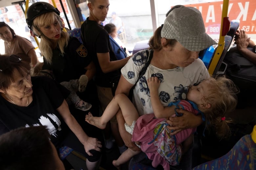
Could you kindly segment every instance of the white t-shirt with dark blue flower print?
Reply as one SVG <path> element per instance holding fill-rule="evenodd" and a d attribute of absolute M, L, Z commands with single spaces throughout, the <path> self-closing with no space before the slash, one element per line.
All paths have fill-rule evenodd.
<path fill-rule="evenodd" d="M 148 51 L 148 54 L 153 53 L 153 50 L 147 49 L 139 51 L 128 60 L 121 70 L 123 77 L 131 84 L 136 83 L 139 72 L 148 60 L 149 55 L 146 51 Z M 153 113 L 147 85 L 147 79 L 152 76 L 157 76 L 160 80 L 158 93 L 164 107 L 168 106 L 170 102 L 186 99 L 189 86 L 198 84 L 210 77 L 201 59 L 196 59 L 187 67 L 176 67 L 167 70 L 162 70 L 150 64 L 133 90 L 133 103 L 140 116 Z"/>

